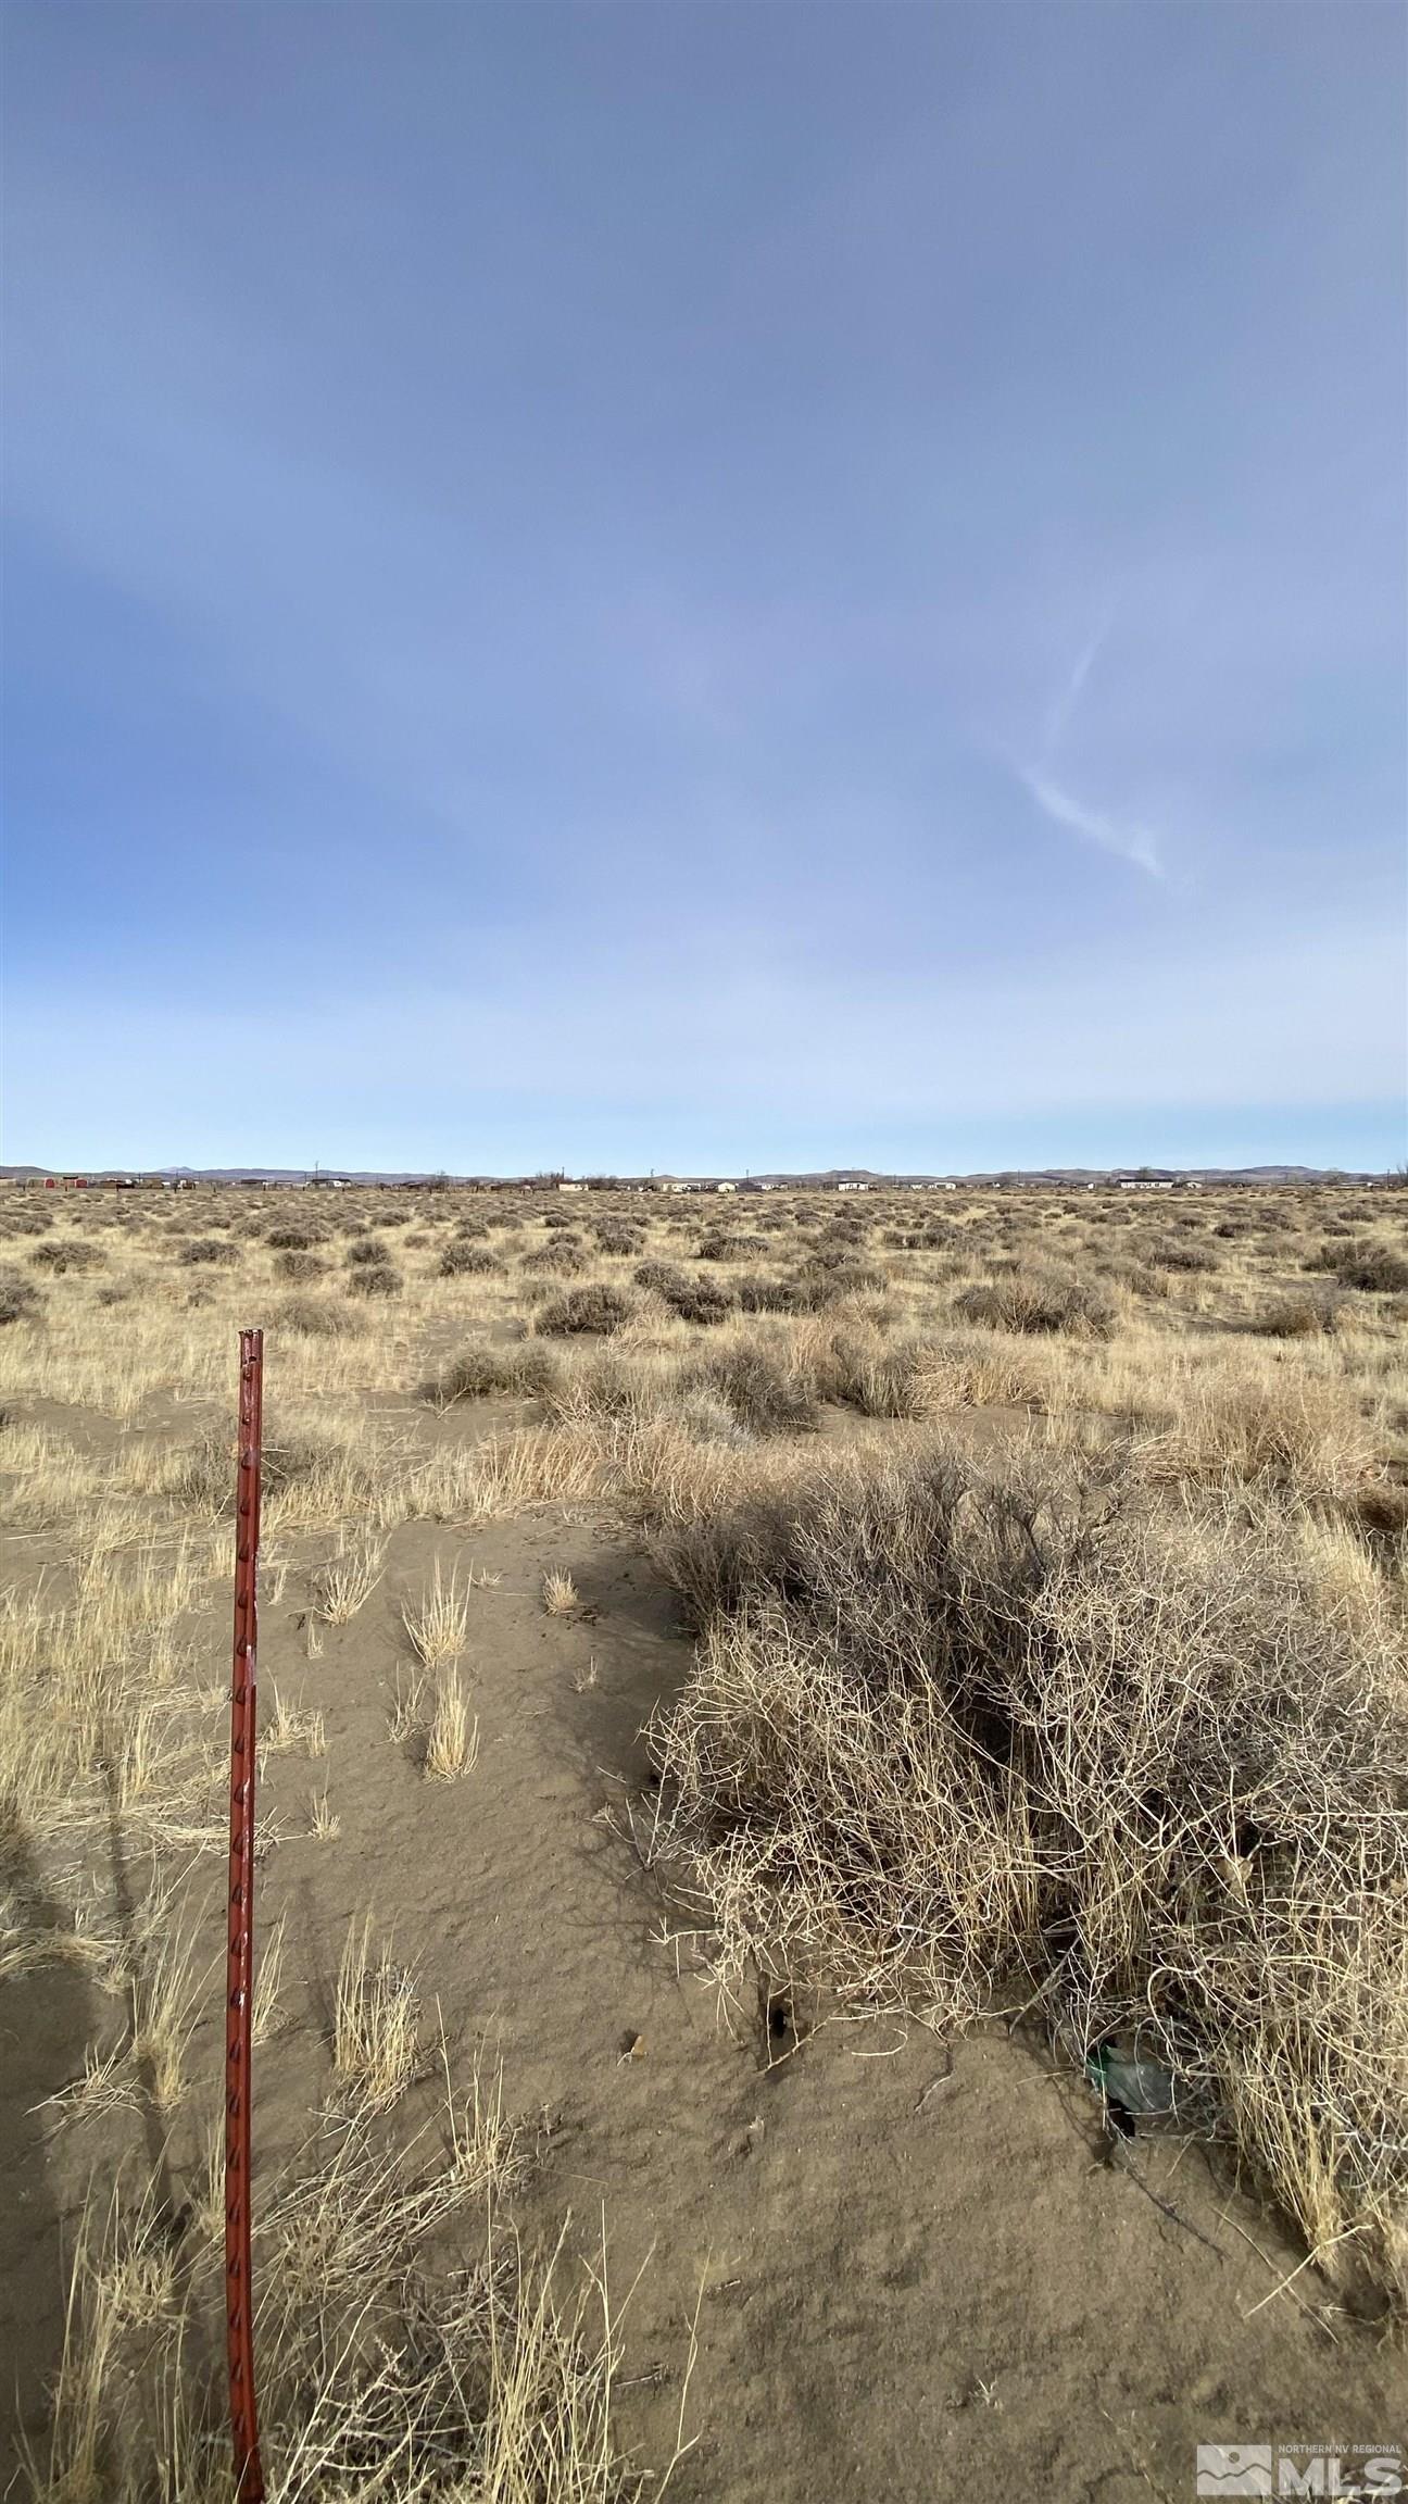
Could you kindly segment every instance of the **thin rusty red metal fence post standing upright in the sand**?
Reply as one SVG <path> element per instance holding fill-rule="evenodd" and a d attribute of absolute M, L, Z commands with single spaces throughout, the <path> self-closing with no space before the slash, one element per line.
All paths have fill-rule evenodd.
<path fill-rule="evenodd" d="M 225 1956 L 225 2329 L 238 2504 L 263 2504 L 253 2389 L 251 2284 L 251 2026 L 253 2026 L 253 1780 L 258 1648 L 258 1487 L 263 1330 L 241 1330 L 241 1460 L 236 1477 L 236 1660 L 230 1680 L 230 1928 Z"/>

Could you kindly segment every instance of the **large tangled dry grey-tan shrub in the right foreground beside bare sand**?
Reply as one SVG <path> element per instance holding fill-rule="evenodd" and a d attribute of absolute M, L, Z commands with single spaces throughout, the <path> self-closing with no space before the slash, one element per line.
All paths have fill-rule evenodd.
<path fill-rule="evenodd" d="M 1335 2269 L 1408 2226 L 1408 1705 L 1295 1512 L 1072 1462 L 842 1465 L 659 1537 L 701 1648 L 656 1723 L 719 1968 L 1127 2048 Z"/>

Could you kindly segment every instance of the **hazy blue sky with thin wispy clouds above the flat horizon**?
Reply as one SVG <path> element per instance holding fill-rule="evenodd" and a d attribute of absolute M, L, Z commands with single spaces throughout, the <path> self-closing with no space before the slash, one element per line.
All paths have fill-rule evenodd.
<path fill-rule="evenodd" d="M 1405 1154 L 1400 8 L 3 35 L 8 1159 Z"/>

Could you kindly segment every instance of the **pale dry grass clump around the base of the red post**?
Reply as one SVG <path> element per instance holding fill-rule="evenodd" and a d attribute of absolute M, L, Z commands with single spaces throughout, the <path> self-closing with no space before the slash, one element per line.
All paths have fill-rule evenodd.
<path fill-rule="evenodd" d="M 381 2146 L 333 2116 L 271 2183 L 256 2229 L 261 2436 L 278 2504 L 626 2504 L 611 2441 L 619 2329 L 604 2269 L 564 2291 L 501 2219 L 521 2171 L 496 2081 Z M 210 2199 L 218 2234 L 223 2204 Z M 433 2271 L 451 2234 L 461 2266 Z M 205 2251 L 210 2239 L 205 2239 Z M 228 2504 L 218 2274 L 150 2196 L 85 2206 L 35 2504 Z M 684 2449 L 684 2446 L 681 2446 Z M 674 2464 L 669 2464 L 671 2469 Z M 669 2479 L 649 2481 L 659 2496 Z"/>

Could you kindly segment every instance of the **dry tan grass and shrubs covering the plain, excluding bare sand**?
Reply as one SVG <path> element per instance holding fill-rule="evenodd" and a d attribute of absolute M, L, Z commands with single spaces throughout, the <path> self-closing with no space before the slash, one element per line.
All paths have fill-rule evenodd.
<path fill-rule="evenodd" d="M 491 1780 L 476 1527 L 601 1507 L 696 1638 L 636 1830 L 727 1998 L 764 1976 L 837 2018 L 1147 2061 L 1345 2304 L 1403 2314 L 1408 1194 L 719 1207 L 5 1194 L 0 1993 L 10 2023 L 73 2013 L 33 2123 L 70 2276 L 33 2494 L 228 2494 L 241 1322 L 266 1325 L 266 1598 L 301 1603 L 316 1663 L 396 1590 L 383 1745 L 421 1785 L 471 1818 Z M 574 1618 L 566 1573 L 539 1608 Z M 353 1768 L 298 1670 L 266 1660 L 263 1750 L 336 1860 Z M 286 1835 L 276 1813 L 266 1853 Z M 308 2126 L 261 2176 L 271 2491 L 656 2491 L 669 2461 L 614 2444 L 604 2286 L 576 2244 L 519 2246 L 514 2081 L 446 2046 L 413 1943 L 368 1916 Z M 293 1956 L 266 1941 L 273 2078 Z"/>

